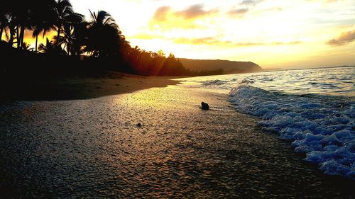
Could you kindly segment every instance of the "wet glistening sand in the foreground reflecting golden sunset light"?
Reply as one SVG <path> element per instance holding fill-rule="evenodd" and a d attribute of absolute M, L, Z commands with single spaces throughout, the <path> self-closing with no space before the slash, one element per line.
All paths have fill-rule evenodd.
<path fill-rule="evenodd" d="M 355 198 L 226 98 L 176 85 L 5 103 L 0 197 Z"/>

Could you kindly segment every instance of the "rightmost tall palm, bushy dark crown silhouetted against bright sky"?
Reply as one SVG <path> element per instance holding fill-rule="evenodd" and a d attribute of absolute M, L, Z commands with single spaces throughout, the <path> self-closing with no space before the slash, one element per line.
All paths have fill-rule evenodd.
<path fill-rule="evenodd" d="M 90 11 L 89 38 L 87 52 L 94 57 L 116 55 L 119 53 L 121 30 L 116 21 L 106 11 Z"/>

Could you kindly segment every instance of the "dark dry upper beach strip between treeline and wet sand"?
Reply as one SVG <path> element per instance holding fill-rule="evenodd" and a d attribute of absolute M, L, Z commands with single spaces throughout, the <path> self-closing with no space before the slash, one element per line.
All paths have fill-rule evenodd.
<path fill-rule="evenodd" d="M 86 76 L 7 79 L 0 86 L 1 101 L 61 101 L 99 98 L 179 84 L 179 76 L 138 76 L 104 72 Z"/>

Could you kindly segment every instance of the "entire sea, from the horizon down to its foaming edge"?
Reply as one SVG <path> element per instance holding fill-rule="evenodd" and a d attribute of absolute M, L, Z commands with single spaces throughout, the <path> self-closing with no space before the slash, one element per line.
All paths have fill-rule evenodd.
<path fill-rule="evenodd" d="M 325 174 L 355 179 L 355 67 L 299 69 L 185 79 L 228 93 L 239 113 L 291 140 Z"/>

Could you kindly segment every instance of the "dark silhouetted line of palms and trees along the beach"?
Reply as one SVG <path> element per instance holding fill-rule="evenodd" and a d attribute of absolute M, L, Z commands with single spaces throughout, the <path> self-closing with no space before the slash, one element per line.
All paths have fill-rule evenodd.
<path fill-rule="evenodd" d="M 33 48 L 25 38 L 28 32 L 32 33 L 35 40 Z M 52 40 L 47 38 L 45 43 L 38 43 L 39 37 L 45 38 L 48 33 L 53 32 L 55 36 Z M 91 69 L 111 69 L 140 75 L 207 74 L 186 69 L 173 54 L 166 57 L 162 51 L 148 52 L 139 47 L 131 47 L 109 13 L 90 11 L 90 18 L 86 21 L 82 14 L 75 13 L 69 0 L 35 0 L 21 3 L 1 0 L 0 38 L 6 38 L 6 45 L 18 49 L 13 51 L 15 54 L 20 50 L 31 52 L 33 55 L 13 55 L 26 55 L 27 64 L 31 67 L 53 67 L 60 63 L 60 67 L 65 68 L 75 69 L 80 65 L 80 69 L 87 66 Z M 0 45 L 4 46 L 3 43 Z M 47 63 L 48 60 L 52 63 Z M 5 64 L 2 65 L 6 67 Z M 13 62 L 11 67 L 15 66 L 16 62 Z"/>

